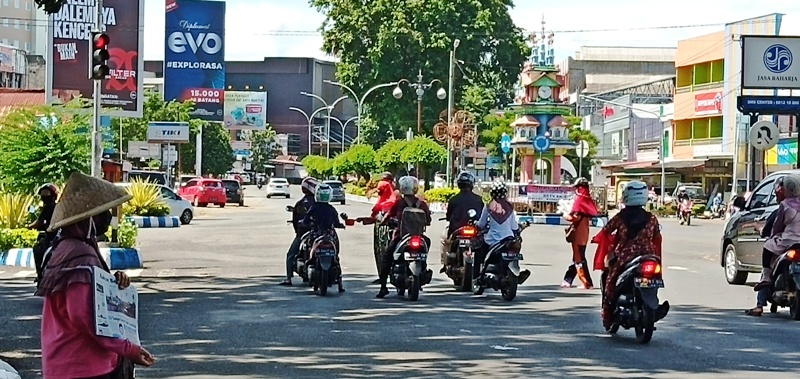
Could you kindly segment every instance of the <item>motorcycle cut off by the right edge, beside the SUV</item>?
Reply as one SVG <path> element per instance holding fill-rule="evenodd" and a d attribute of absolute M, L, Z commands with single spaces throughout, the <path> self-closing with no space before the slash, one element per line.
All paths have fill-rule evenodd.
<path fill-rule="evenodd" d="M 778 312 L 778 307 L 789 308 L 792 320 L 800 320 L 800 244 L 781 254 L 774 266 L 773 284 L 767 296 L 770 312 Z"/>

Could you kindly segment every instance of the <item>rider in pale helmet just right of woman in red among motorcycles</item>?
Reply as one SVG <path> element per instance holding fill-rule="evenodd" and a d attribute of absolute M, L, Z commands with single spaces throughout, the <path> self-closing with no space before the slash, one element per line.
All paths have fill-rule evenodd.
<path fill-rule="evenodd" d="M 378 291 L 377 298 L 381 299 L 386 297 L 389 294 L 389 288 L 387 287 L 386 281 L 389 279 L 389 273 L 392 270 L 392 263 L 394 263 L 394 250 L 397 248 L 397 244 L 400 242 L 400 238 L 403 236 L 401 235 L 400 225 L 402 223 L 403 211 L 407 207 L 416 207 L 422 209 L 426 215 L 426 225 L 428 226 L 431 224 L 431 210 L 428 208 L 428 203 L 424 200 L 417 197 L 417 191 L 419 190 L 419 180 L 413 176 L 404 176 L 398 180 L 398 189 L 400 190 L 401 197 L 397 199 L 392 206 L 392 209 L 389 210 L 389 213 L 384 217 L 381 221 L 382 225 L 387 225 L 391 222 L 395 222 L 397 227 L 395 227 L 392 239 L 389 241 L 389 245 L 386 247 L 386 250 L 383 251 L 381 254 L 381 270 L 380 270 L 380 285 L 381 289 Z M 422 236 L 425 239 L 425 243 L 430 246 L 431 241 L 427 236 Z M 430 275 L 430 270 L 426 273 L 426 275 Z M 423 281 L 424 283 L 425 281 Z"/>

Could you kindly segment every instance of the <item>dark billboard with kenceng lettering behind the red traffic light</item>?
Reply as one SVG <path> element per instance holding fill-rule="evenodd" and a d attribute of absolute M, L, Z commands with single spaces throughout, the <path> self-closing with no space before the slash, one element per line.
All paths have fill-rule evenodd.
<path fill-rule="evenodd" d="M 93 98 L 89 79 L 95 7 L 90 1 L 68 1 L 50 15 L 47 28 L 47 97 L 50 103 Z M 144 0 L 104 0 L 103 21 L 111 40 L 109 78 L 100 104 L 114 116 L 142 116 Z"/>

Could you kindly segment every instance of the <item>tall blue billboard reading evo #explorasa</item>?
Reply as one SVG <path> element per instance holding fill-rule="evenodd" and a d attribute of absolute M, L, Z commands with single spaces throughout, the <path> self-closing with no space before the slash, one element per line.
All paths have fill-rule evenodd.
<path fill-rule="evenodd" d="M 225 3 L 167 0 L 164 100 L 193 101 L 195 118 L 222 121 Z"/>

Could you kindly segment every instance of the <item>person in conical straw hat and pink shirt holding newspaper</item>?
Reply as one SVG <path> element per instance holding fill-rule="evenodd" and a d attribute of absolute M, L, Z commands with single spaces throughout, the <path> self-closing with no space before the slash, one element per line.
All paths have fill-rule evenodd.
<path fill-rule="evenodd" d="M 48 229 L 58 231 L 58 236 L 36 291 L 44 297 L 45 378 L 111 377 L 130 370 L 131 362 L 142 366 L 155 363 L 153 355 L 141 346 L 95 332 L 93 270 L 110 272 L 100 255 L 97 235 L 108 230 L 110 209 L 130 199 L 123 188 L 82 173 L 73 173 L 67 181 Z M 114 276 L 120 288 L 130 285 L 125 273 L 118 271 Z M 76 352 L 80 353 L 76 356 Z"/>

